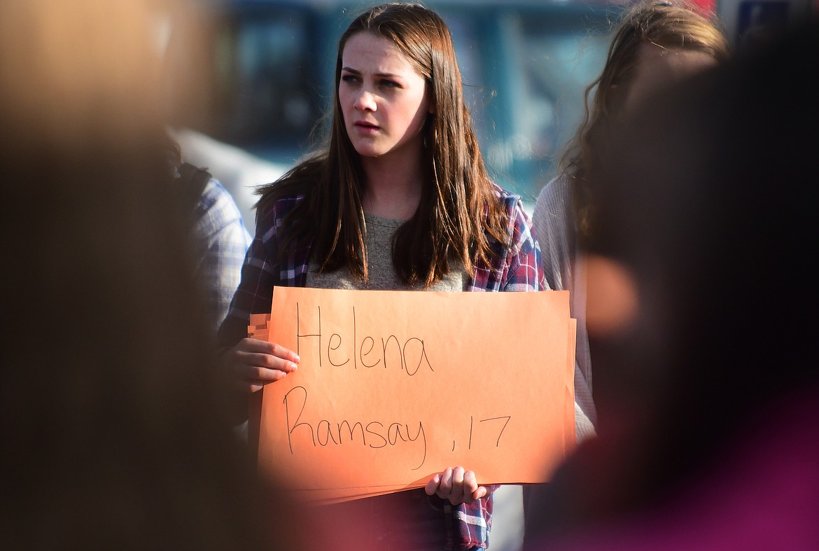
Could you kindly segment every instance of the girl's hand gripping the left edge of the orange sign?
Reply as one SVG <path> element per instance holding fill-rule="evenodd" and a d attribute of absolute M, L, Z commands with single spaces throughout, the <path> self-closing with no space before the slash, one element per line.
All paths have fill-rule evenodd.
<path fill-rule="evenodd" d="M 233 348 L 224 350 L 219 355 L 219 362 L 233 373 L 231 378 L 240 390 L 256 392 L 296 371 L 299 357 L 284 346 L 245 338 Z"/>

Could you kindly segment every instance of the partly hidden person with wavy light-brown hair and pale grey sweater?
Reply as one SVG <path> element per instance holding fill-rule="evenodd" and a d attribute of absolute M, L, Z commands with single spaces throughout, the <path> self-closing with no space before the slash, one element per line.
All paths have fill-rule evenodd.
<path fill-rule="evenodd" d="M 561 172 L 543 187 L 532 224 L 541 242 L 550 288 L 571 291 L 577 318 L 575 418 L 577 442 L 595 435 L 597 410 L 586 332 L 586 263 L 580 240 L 588 233 L 590 213 L 600 204 L 588 173 L 600 163 L 600 141 L 613 124 L 638 111 L 645 98 L 728 57 L 728 43 L 711 16 L 685 0 L 647 0 L 628 8 L 615 29 L 600 76 L 586 88 L 586 115 L 566 144 Z M 669 132 L 672 132 L 669 129 Z M 605 373 L 597 373 L 605 376 Z M 540 486 L 524 486 L 524 503 Z M 524 508 L 526 511 L 527 508 Z M 526 522 L 527 532 L 540 526 Z"/>

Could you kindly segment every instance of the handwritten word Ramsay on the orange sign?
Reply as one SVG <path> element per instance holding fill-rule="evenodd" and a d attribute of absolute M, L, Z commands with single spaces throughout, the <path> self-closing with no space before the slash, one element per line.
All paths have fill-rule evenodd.
<path fill-rule="evenodd" d="M 292 396 L 291 396 L 292 395 Z M 300 422 L 301 413 L 304 413 L 305 404 L 307 404 L 307 389 L 304 386 L 294 386 L 284 395 L 284 415 L 287 424 L 287 444 L 290 445 L 290 454 L 293 453 L 292 435 L 296 430 L 310 431 L 310 440 L 313 442 L 313 447 L 328 445 L 344 445 L 355 444 L 360 441 L 361 445 L 369 446 L 373 449 L 385 448 L 387 445 L 396 446 L 405 442 L 419 441 L 419 445 L 423 446 L 423 454 L 421 463 L 418 467 L 414 467 L 413 471 L 417 471 L 422 467 L 423 462 L 427 460 L 427 435 L 423 431 L 423 422 L 418 422 L 418 430 L 415 434 L 410 434 L 409 425 L 401 424 L 399 422 L 392 422 L 384 430 L 384 423 L 378 421 L 370 421 L 364 425 L 360 421 L 351 422 L 346 419 L 342 422 L 331 423 L 327 419 L 322 419 L 316 426 L 313 427 L 308 422 Z M 294 403 L 291 404 L 291 401 Z M 299 408 L 301 402 L 301 409 Z M 292 411 L 298 409 L 297 415 L 291 415 Z M 295 420 L 290 422 L 291 417 Z M 358 436 L 356 436 L 356 434 Z"/>

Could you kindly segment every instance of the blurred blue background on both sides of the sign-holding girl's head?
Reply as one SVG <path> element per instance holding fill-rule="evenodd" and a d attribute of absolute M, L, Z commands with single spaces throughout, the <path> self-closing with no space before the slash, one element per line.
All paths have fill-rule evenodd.
<path fill-rule="evenodd" d="M 169 57 L 175 79 L 195 75 L 203 84 L 173 107 L 172 121 L 185 156 L 223 180 L 249 228 L 255 197 L 246 188 L 278 177 L 317 144 L 333 98 L 337 40 L 373 3 L 196 2 L 198 20 L 188 24 L 197 29 L 197 55 L 171 50 Z M 492 176 L 533 203 L 577 128 L 584 90 L 602 68 L 623 4 L 423 3 L 450 26 Z M 219 152 L 222 144 L 229 147 Z M 233 182 L 247 171 L 253 176 Z"/>

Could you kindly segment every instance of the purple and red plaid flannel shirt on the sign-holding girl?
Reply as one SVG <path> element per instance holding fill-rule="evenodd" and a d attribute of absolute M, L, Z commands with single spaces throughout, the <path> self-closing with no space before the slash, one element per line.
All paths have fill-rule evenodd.
<path fill-rule="evenodd" d="M 495 253 L 491 264 L 479 263 L 466 291 L 541 291 L 548 289 L 541 264 L 541 250 L 532 222 L 523 210 L 519 196 L 495 185 L 495 196 L 509 218 L 506 228 L 510 245 L 490 237 Z M 228 317 L 219 331 L 219 346 L 235 346 L 247 336 L 251 314 L 269 313 L 273 287 L 305 287 L 310 244 L 289 251 L 283 257 L 279 241 L 287 228 L 284 219 L 302 196 L 283 197 L 262 213 L 242 267 L 242 282 L 233 296 Z M 280 260 L 283 258 L 283 260 Z M 446 549 L 486 549 L 492 525 L 492 492 L 473 504 L 450 505 L 432 496 L 432 501 L 447 517 Z"/>

